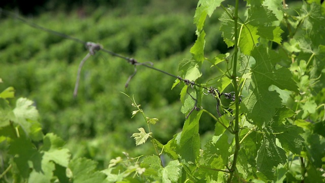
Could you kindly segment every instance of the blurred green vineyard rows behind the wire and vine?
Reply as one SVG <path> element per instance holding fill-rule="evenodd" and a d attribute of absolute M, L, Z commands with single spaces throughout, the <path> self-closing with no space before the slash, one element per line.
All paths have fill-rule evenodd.
<path fill-rule="evenodd" d="M 179 62 L 191 58 L 189 49 L 197 38 L 192 23 L 197 0 L 33 2 L 0 5 L 24 15 L 30 22 L 100 43 L 139 62 L 153 62 L 156 68 L 174 75 L 178 74 Z M 133 66 L 107 53 L 96 53 L 82 69 L 78 96 L 74 98 L 78 66 L 87 54 L 84 45 L 0 15 L 0 90 L 13 86 L 17 99 L 34 100 L 44 133 L 53 132 L 63 138 L 74 157 L 91 158 L 103 167 L 110 159 L 122 156 L 123 151 L 132 157 L 153 153 L 151 143 L 136 147 L 131 138 L 146 123 L 140 116 L 131 118 L 135 108 L 120 93 L 125 92 L 124 84 L 133 74 Z M 207 58 L 228 51 L 220 35 L 218 17 L 216 11 L 206 22 Z M 218 76 L 208 63 L 205 68 L 199 81 L 202 83 Z M 180 112 L 180 87 L 171 90 L 174 81 L 175 78 L 140 66 L 127 88 L 147 116 L 159 119 L 152 131 L 162 143 L 181 130 L 185 118 Z M 212 99 L 203 99 L 205 108 L 215 105 Z M 214 121 L 202 116 L 200 134 L 211 130 Z"/>

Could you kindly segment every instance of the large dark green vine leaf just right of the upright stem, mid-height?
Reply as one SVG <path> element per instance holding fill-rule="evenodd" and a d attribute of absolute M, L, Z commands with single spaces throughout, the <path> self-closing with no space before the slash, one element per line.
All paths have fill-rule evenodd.
<path fill-rule="evenodd" d="M 279 94 L 270 91 L 271 85 L 280 89 L 288 89 L 298 93 L 298 86 L 291 79 L 292 75 L 286 68 L 275 70 L 272 65 L 274 58 L 270 56 L 264 46 L 255 47 L 251 52 L 255 59 L 255 66 L 251 69 L 251 80 L 248 87 L 249 96 L 244 99 L 244 110 L 248 112 L 247 117 L 252 119 L 258 127 L 271 120 L 276 109 L 281 107 Z"/>

